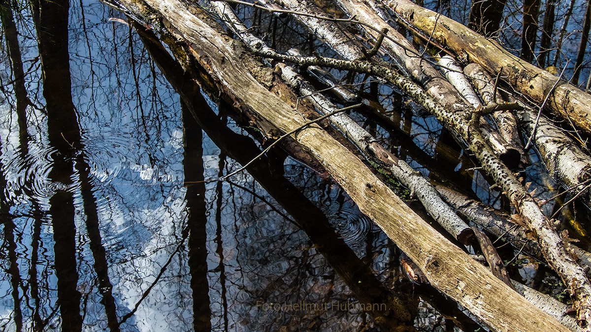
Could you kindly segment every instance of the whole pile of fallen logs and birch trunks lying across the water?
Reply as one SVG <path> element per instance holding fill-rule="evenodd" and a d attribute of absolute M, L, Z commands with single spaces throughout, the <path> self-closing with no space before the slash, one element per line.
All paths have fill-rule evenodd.
<path fill-rule="evenodd" d="M 537 148 L 550 175 L 591 203 L 584 186 L 591 180 L 591 158 L 538 113 L 538 109 L 549 109 L 578 130 L 591 133 L 590 95 L 525 63 L 495 41 L 408 0 L 335 0 L 350 19 L 333 18 L 310 0 L 209 1 L 206 8 L 181 0 L 104 1 L 141 23 L 138 29 L 158 32 L 182 66 L 203 67 L 210 75 L 201 82 L 210 85 L 203 89 L 213 86 L 219 96 L 239 105 L 269 138 L 290 133 L 284 136 L 322 165 L 431 285 L 485 326 L 496 331 L 591 330 L 591 284 L 586 275 L 591 255 L 557 232 L 553 220 L 541 210 L 546 202 L 535 200 L 513 173 L 528 162 L 517 134 L 520 128 L 531 137 L 527 145 Z M 296 49 L 280 53 L 252 34 L 233 6 L 293 15 L 339 58 L 302 56 Z M 394 21 L 423 36 L 428 41 L 425 47 L 438 48 L 441 56 L 424 57 L 392 27 Z M 355 24 L 374 40 L 373 47 L 366 48 L 345 24 Z M 462 67 L 458 61 L 467 65 Z M 502 188 L 515 214 L 502 214 L 450 188 L 432 185 L 317 92 L 293 65 L 322 76 L 329 76 L 324 68 L 365 73 L 400 89 L 465 144 L 483 172 Z M 331 82 L 335 84 L 327 79 Z M 356 99 L 343 87 L 334 89 L 343 100 Z M 300 96 L 306 101 L 300 101 Z M 314 109 L 331 115 L 327 119 L 348 141 L 328 130 L 326 123 L 309 121 L 318 118 Z M 407 187 L 459 243 L 479 243 L 489 268 L 407 207 L 363 158 Z M 566 314 L 566 305 L 511 281 L 488 237 L 479 227 L 468 226 L 456 211 L 489 234 L 546 261 L 569 289 L 576 318 Z"/>

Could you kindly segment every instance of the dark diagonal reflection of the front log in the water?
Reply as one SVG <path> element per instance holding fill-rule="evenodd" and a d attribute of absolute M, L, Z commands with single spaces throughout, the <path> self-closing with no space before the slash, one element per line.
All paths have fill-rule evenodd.
<path fill-rule="evenodd" d="M 203 129 L 217 147 L 239 164 L 246 165 L 255 158 L 261 152 L 255 142 L 248 136 L 233 132 L 217 118 L 212 109 L 203 109 L 202 105 L 207 104 L 203 100 L 199 86 L 187 78 L 181 66 L 171 58 L 151 31 L 137 23 L 134 27 L 151 58 L 201 127 L 199 130 Z M 212 91 L 208 94 L 217 96 Z M 268 158 L 259 158 L 247 167 L 247 171 L 293 217 L 297 226 L 306 232 L 315 248 L 333 266 L 360 303 L 387 303 L 389 310 L 377 306 L 368 308 L 368 313 L 381 328 L 392 330 L 395 327 L 407 326 L 408 330 L 412 330 L 411 304 L 408 300 L 386 289 L 372 269 L 337 236 L 322 210 L 314 206 L 287 178 L 272 170 L 269 164 L 271 162 Z"/>

